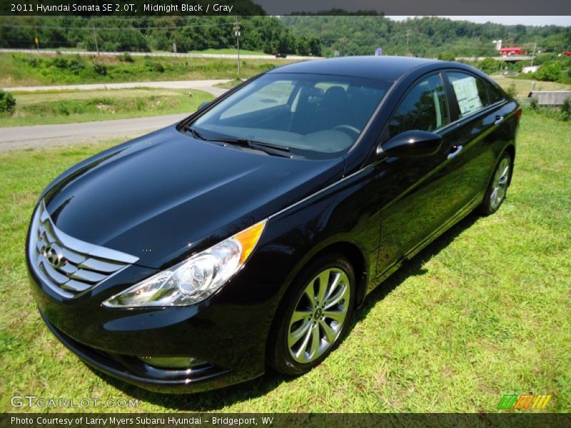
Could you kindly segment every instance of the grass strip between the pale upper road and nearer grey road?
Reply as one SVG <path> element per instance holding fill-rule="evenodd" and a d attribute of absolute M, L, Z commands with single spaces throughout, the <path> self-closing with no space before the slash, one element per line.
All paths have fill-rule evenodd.
<path fill-rule="evenodd" d="M 201 103 L 214 98 L 194 89 L 154 88 L 21 92 L 14 93 L 14 97 L 16 111 L 11 116 L 0 115 L 0 127 L 192 113 Z"/>

